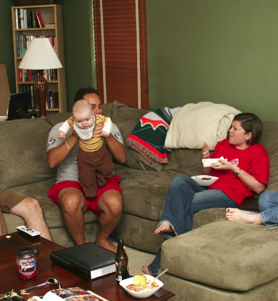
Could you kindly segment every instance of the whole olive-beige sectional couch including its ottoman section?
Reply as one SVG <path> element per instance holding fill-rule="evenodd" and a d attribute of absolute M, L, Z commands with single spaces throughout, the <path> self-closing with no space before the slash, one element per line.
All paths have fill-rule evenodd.
<path fill-rule="evenodd" d="M 119 127 L 124 142 L 141 116 L 148 111 L 117 102 L 103 105 L 103 114 Z M 64 246 L 73 241 L 64 227 L 61 210 L 48 199 L 56 181 L 56 169 L 47 163 L 46 144 L 53 125 L 70 113 L 47 118 L 0 123 L 0 191 L 36 197 L 44 212 L 54 242 Z M 270 158 L 270 178 L 266 190 L 278 188 L 278 122 L 263 122 L 260 143 Z M 201 152 L 174 149 L 168 164 L 147 161 L 126 147 L 127 161 L 115 164 L 122 178 L 124 215 L 112 233 L 127 245 L 156 253 L 164 239 L 154 235 L 163 211 L 164 199 L 176 174 L 201 174 Z M 255 203 L 253 203 L 255 204 Z M 223 208 L 201 211 L 194 216 L 194 230 L 166 240 L 162 245 L 161 276 L 164 287 L 176 293 L 173 300 L 275 300 L 278 299 L 278 230 L 276 227 L 234 224 L 224 219 Z M 14 232 L 23 220 L 4 214 L 8 231 Z M 34 217 L 35 218 L 35 217 Z M 95 241 L 97 215 L 85 213 L 87 241 Z"/>

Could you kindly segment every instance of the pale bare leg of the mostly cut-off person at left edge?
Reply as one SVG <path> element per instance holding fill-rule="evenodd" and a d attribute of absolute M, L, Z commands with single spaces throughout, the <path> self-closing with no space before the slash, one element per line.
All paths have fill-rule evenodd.
<path fill-rule="evenodd" d="M 42 237 L 52 241 L 42 207 L 37 199 L 28 197 L 12 207 L 10 212 L 21 216 L 26 226 L 41 232 Z"/>

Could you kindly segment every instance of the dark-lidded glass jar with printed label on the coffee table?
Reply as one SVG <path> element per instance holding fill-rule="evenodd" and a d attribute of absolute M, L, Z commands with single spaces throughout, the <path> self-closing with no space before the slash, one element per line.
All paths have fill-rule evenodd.
<path fill-rule="evenodd" d="M 37 276 L 37 260 L 33 247 L 20 247 L 17 253 L 19 277 L 29 279 Z"/>

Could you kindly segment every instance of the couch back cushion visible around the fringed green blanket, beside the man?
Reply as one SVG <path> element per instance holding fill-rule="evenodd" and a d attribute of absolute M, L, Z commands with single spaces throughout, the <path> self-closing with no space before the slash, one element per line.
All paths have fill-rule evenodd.
<path fill-rule="evenodd" d="M 136 108 L 131 108 L 129 106 L 116 107 L 116 105 L 123 105 L 117 102 L 113 102 L 112 107 L 112 121 L 119 127 L 121 135 L 123 137 L 123 142 L 126 146 L 126 139 L 128 135 L 132 132 L 137 122 L 140 118 L 150 112 L 151 110 L 141 110 Z M 127 160 L 123 164 L 124 166 L 138 169 L 138 170 L 154 170 L 161 171 L 162 164 L 154 162 L 150 165 L 147 160 L 140 155 L 136 150 L 126 146 Z"/>

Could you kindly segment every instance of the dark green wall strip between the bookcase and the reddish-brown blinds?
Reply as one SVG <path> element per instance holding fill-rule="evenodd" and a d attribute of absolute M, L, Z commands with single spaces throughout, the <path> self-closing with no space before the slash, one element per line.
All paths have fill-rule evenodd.
<path fill-rule="evenodd" d="M 95 86 L 92 59 L 92 0 L 57 0 L 62 5 L 68 111 L 79 88 Z"/>

